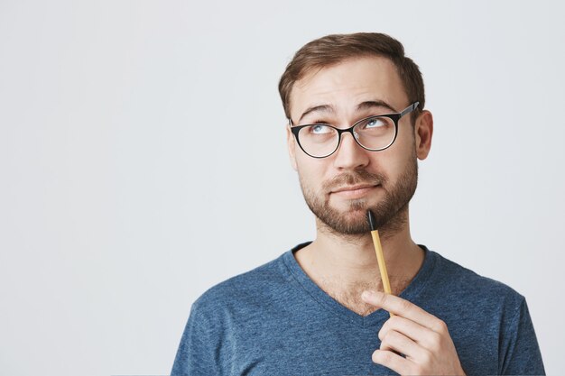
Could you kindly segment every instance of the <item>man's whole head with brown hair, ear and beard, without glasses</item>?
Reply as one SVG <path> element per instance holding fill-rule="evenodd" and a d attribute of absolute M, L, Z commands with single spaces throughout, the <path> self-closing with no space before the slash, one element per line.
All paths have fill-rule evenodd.
<path fill-rule="evenodd" d="M 329 124 L 343 129 L 368 116 L 398 113 L 420 102 L 418 110 L 398 121 L 396 140 L 383 151 L 367 151 L 353 133 L 343 133 L 337 151 L 316 159 L 301 150 L 288 129 L 292 166 L 320 225 L 339 234 L 366 233 L 370 208 L 382 231 L 401 229 L 416 188 L 416 159 L 426 158 L 432 131 L 431 114 L 422 111 L 421 73 L 404 57 L 402 44 L 376 33 L 311 41 L 287 66 L 279 90 L 292 125 Z"/>

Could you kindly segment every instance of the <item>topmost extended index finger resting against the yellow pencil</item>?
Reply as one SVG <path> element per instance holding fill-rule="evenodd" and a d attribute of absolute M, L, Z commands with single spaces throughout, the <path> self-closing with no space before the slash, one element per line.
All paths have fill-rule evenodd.
<path fill-rule="evenodd" d="M 434 332 L 439 332 L 442 330 L 443 326 L 445 326 L 438 317 L 430 315 L 428 312 L 421 309 L 421 307 L 412 304 L 406 299 L 378 291 L 365 291 L 361 295 L 361 298 L 372 306 L 383 308 L 395 315 L 408 318 L 421 326 L 426 326 Z"/>

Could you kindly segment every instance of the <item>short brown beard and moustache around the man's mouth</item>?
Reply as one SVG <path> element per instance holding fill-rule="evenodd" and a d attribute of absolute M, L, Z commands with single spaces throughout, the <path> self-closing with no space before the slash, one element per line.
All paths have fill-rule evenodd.
<path fill-rule="evenodd" d="M 320 195 L 305 184 L 300 174 L 299 179 L 306 204 L 330 233 L 359 235 L 370 232 L 371 228 L 366 219 L 366 211 L 370 209 L 375 215 L 379 234 L 389 237 L 402 230 L 408 221 L 408 203 L 418 184 L 418 161 L 414 152 L 413 158 L 392 186 L 384 174 L 354 170 L 324 182 L 323 194 Z M 354 184 L 378 185 L 378 188 L 384 190 L 384 197 L 374 205 L 369 205 L 366 197 L 351 199 L 348 200 L 345 210 L 330 206 L 327 192 L 331 192 L 333 188 Z"/>

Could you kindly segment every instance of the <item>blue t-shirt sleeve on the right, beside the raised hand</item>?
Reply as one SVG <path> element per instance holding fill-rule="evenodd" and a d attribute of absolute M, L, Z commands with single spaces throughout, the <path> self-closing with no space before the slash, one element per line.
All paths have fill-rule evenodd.
<path fill-rule="evenodd" d="M 520 307 L 501 338 L 501 375 L 544 375 L 542 353 L 533 330 L 532 318 L 522 297 Z"/>

